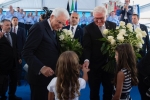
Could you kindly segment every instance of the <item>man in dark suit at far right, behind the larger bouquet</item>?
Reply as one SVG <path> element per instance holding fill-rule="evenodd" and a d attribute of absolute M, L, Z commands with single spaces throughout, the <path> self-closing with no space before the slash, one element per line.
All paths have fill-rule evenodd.
<path fill-rule="evenodd" d="M 144 79 L 146 76 L 148 76 L 146 69 L 149 67 L 149 62 L 146 60 L 146 58 L 149 58 L 149 54 L 147 55 L 147 52 L 150 50 L 150 41 L 149 41 L 149 35 L 148 35 L 148 30 L 147 27 L 144 24 L 139 23 L 139 16 L 137 14 L 132 15 L 132 23 L 134 30 L 136 28 L 140 28 L 142 31 L 145 31 L 147 36 L 146 38 L 143 38 L 144 44 L 142 49 L 140 50 L 140 54 L 142 56 L 142 60 L 140 59 L 139 64 L 138 64 L 138 79 L 139 79 L 139 84 L 138 84 L 138 89 L 141 95 L 141 100 L 149 100 L 149 98 L 146 96 L 146 92 L 148 90 L 148 86 L 144 83 Z"/>

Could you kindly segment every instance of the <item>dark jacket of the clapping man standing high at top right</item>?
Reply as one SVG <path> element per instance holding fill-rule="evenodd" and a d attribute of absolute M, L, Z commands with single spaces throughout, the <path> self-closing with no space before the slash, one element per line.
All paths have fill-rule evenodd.
<path fill-rule="evenodd" d="M 123 10 L 123 7 L 121 7 L 121 18 L 120 21 L 124 20 L 124 16 L 125 16 L 125 12 L 126 10 Z M 132 14 L 133 14 L 133 7 L 132 6 L 128 6 L 128 12 L 127 12 L 127 18 L 128 18 L 128 22 L 132 23 Z"/>

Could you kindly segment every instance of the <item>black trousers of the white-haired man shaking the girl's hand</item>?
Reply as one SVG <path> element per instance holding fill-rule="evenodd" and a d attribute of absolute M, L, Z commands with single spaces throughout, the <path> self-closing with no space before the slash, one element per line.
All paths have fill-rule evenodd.
<path fill-rule="evenodd" d="M 100 85 L 103 85 L 103 100 L 112 100 L 113 84 L 112 79 L 114 75 L 100 70 L 92 70 L 88 72 L 88 82 L 90 87 L 90 100 L 100 100 L 99 90 Z"/>

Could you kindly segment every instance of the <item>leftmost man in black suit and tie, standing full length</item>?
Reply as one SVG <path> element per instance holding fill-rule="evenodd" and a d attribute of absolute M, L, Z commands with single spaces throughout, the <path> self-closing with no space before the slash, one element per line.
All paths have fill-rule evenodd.
<path fill-rule="evenodd" d="M 22 98 L 15 95 L 17 89 L 17 70 L 18 62 L 21 63 L 21 59 L 17 52 L 17 36 L 10 32 L 11 22 L 4 19 L 1 22 L 3 37 L 0 37 L 0 91 L 1 100 L 6 100 L 5 96 L 8 87 L 9 76 L 9 91 L 8 100 L 22 100 Z"/>

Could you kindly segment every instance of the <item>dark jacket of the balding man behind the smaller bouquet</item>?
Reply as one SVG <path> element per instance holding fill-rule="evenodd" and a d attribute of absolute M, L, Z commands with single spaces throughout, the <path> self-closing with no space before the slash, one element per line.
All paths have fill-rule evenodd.
<path fill-rule="evenodd" d="M 63 29 L 70 29 L 70 25 L 64 27 Z M 83 30 L 82 28 L 78 25 L 77 28 L 76 28 L 76 31 L 75 31 L 75 35 L 74 35 L 74 38 L 75 39 L 78 39 L 79 42 L 81 43 L 81 45 L 83 45 Z"/>

